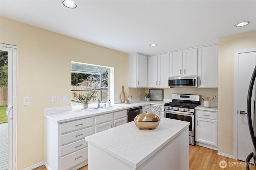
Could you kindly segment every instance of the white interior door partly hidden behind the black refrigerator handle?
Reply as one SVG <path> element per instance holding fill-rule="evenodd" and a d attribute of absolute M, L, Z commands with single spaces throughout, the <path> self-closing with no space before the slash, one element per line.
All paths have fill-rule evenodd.
<path fill-rule="evenodd" d="M 235 51 L 234 61 L 234 158 L 246 161 L 246 157 L 253 151 L 247 120 L 247 95 L 252 72 L 256 66 L 256 49 Z M 254 113 L 255 101 L 254 87 L 252 113 Z"/>

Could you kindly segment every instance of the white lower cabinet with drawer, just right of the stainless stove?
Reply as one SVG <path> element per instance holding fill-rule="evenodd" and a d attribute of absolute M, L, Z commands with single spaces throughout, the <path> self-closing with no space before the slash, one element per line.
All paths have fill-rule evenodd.
<path fill-rule="evenodd" d="M 217 145 L 217 112 L 196 110 L 196 144 L 211 149 Z"/>

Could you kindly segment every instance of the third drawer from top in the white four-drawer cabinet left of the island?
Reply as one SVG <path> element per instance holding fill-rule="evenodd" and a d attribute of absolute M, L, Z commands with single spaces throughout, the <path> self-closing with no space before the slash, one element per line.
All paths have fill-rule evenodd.
<path fill-rule="evenodd" d="M 85 147 L 88 147 L 88 142 L 85 141 L 84 139 L 70 143 L 68 145 L 64 145 L 63 147 L 60 147 L 60 157 L 75 152 L 77 150 L 83 149 Z"/>

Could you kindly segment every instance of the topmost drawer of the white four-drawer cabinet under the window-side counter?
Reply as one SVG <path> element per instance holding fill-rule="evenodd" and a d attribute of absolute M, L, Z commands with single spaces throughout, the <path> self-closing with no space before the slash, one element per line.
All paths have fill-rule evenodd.
<path fill-rule="evenodd" d="M 60 134 L 92 126 L 92 117 L 60 124 Z"/>

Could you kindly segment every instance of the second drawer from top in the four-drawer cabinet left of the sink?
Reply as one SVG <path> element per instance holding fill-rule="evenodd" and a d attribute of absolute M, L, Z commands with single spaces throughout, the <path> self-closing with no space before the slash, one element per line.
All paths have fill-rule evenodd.
<path fill-rule="evenodd" d="M 60 145 L 65 145 L 74 141 L 78 141 L 80 139 L 84 139 L 84 137 L 93 134 L 93 127 L 88 127 L 86 129 L 81 129 L 79 131 L 74 131 L 71 133 L 67 133 L 65 135 L 60 136 Z"/>

